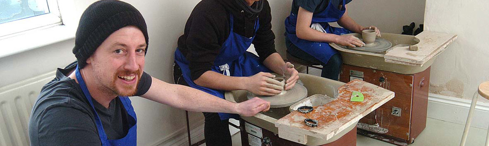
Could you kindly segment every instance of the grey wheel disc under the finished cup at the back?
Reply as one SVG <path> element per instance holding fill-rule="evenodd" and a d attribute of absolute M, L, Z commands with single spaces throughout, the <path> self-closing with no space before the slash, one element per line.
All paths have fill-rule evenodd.
<path fill-rule="evenodd" d="M 360 40 L 363 41 L 362 38 Z M 341 46 L 341 45 L 339 45 Z M 346 47 L 346 46 L 341 46 L 341 48 L 345 49 L 350 49 L 350 50 L 355 50 L 355 51 L 362 51 L 362 52 L 370 52 L 370 53 L 378 53 L 378 52 L 385 52 L 387 49 L 392 47 L 392 43 L 386 39 L 383 38 L 377 38 L 375 39 L 375 42 L 372 44 L 367 44 L 363 47 Z"/>

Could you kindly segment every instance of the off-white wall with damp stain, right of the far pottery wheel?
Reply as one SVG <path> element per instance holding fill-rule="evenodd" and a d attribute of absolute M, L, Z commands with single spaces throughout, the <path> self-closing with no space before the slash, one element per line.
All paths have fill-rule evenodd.
<path fill-rule="evenodd" d="M 431 93 L 471 99 L 489 80 L 488 5 L 488 0 L 426 0 L 425 30 L 458 35 L 431 67 Z"/>

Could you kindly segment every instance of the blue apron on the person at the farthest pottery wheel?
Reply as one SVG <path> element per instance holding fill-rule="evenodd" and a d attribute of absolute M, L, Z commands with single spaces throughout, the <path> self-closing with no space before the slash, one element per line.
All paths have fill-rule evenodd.
<path fill-rule="evenodd" d="M 324 30 L 326 30 L 326 32 L 329 34 L 343 35 L 353 33 L 352 31 L 349 31 L 347 29 L 332 27 L 328 24 L 328 22 L 338 21 L 343 16 L 343 14 L 345 14 L 345 0 L 343 0 L 342 5 L 343 6 L 341 7 L 341 10 L 338 10 L 338 8 L 336 8 L 337 6 L 333 5 L 333 3 L 330 1 L 328 7 L 326 7 L 324 11 L 320 13 L 314 13 L 312 15 L 311 24 L 321 24 Z M 295 34 L 296 24 L 297 15 L 290 13 L 290 16 L 285 19 L 286 36 L 289 38 L 290 42 L 292 42 L 299 49 L 303 50 L 309 55 L 314 56 L 316 59 L 320 60 L 324 64 L 328 63 L 328 60 L 330 60 L 331 56 L 338 53 L 327 42 L 315 42 L 298 38 Z"/>

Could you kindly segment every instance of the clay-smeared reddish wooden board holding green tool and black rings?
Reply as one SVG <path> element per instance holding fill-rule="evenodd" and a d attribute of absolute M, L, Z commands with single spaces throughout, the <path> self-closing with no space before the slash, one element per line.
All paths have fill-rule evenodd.
<path fill-rule="evenodd" d="M 332 139 L 346 128 L 356 124 L 362 117 L 394 98 L 394 92 L 376 85 L 353 80 L 338 89 L 338 96 L 331 102 L 315 106 L 309 113 L 293 111 L 275 122 L 280 138 L 300 144 L 307 143 L 307 136 L 325 140 Z M 352 102 L 353 91 L 364 95 L 362 102 Z M 306 118 L 316 119 L 317 127 L 306 126 Z"/>

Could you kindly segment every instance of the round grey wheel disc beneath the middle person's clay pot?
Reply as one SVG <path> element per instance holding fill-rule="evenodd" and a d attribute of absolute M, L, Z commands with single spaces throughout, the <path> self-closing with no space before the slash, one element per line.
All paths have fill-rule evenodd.
<path fill-rule="evenodd" d="M 246 96 L 248 99 L 259 97 L 263 100 L 270 102 L 270 108 L 282 108 L 289 107 L 296 102 L 306 98 L 307 89 L 301 84 L 295 84 L 294 88 L 282 91 L 282 93 L 274 95 L 274 96 L 266 96 L 266 95 L 255 95 L 252 92 L 246 91 Z"/>

